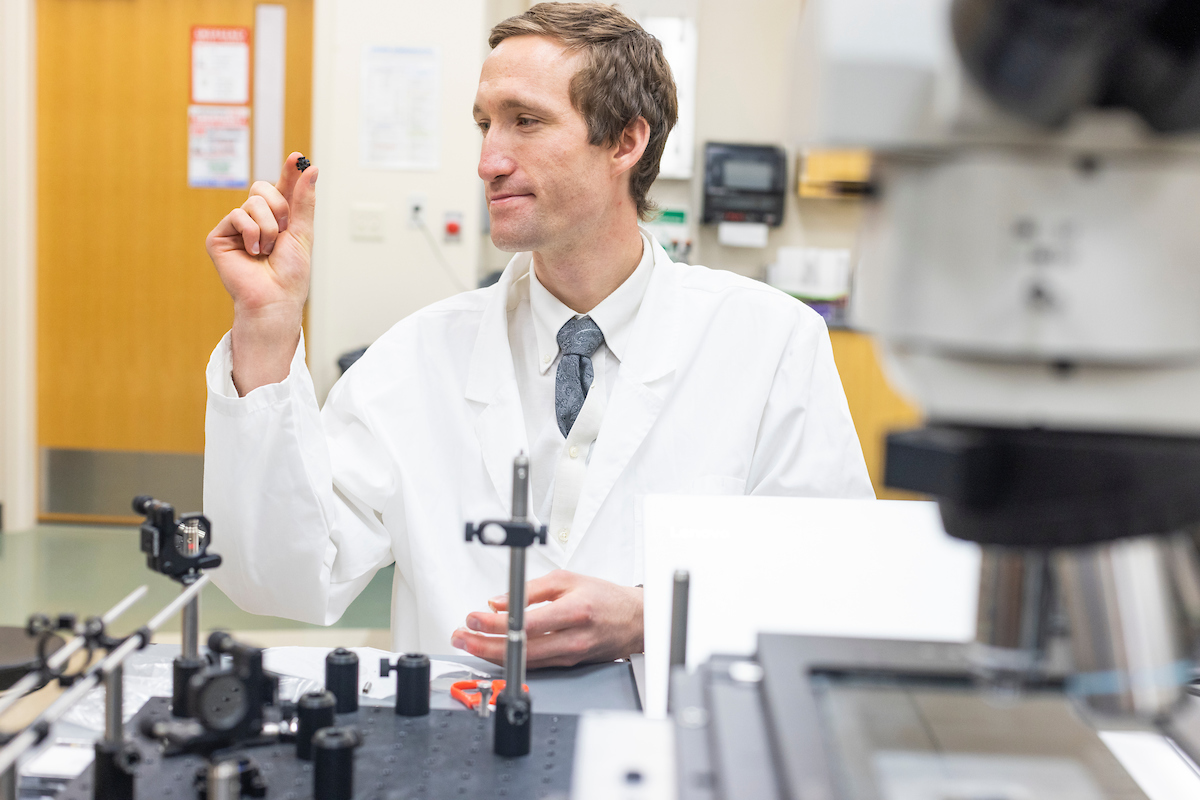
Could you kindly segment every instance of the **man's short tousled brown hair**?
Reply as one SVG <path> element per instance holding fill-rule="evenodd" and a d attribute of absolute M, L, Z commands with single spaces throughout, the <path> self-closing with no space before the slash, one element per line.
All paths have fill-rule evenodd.
<path fill-rule="evenodd" d="M 571 104 L 587 121 L 592 144 L 617 144 L 638 116 L 649 125 L 646 152 L 629 176 L 637 216 L 649 218 L 655 209 L 646 193 L 659 176 L 667 134 L 679 115 L 662 44 L 614 6 L 600 2 L 539 2 L 493 28 L 487 43 L 494 48 L 514 36 L 547 36 L 583 53 L 583 66 L 571 78 Z"/>

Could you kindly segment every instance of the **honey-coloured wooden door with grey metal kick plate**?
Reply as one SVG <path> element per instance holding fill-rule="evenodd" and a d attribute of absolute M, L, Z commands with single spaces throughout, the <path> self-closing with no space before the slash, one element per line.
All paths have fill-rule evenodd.
<path fill-rule="evenodd" d="M 310 150 L 312 0 L 287 10 L 284 152 Z M 131 492 L 198 506 L 204 367 L 232 306 L 204 237 L 245 190 L 188 188 L 193 25 L 252 0 L 37 5 L 37 416 L 42 518 Z"/>

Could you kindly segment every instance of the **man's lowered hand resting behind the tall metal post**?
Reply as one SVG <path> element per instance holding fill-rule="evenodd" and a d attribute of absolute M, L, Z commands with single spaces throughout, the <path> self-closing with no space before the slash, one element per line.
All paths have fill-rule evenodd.
<path fill-rule="evenodd" d="M 546 603 L 526 612 L 527 662 L 572 667 L 624 658 L 642 651 L 642 590 L 554 570 L 526 584 L 526 600 Z M 504 663 L 509 631 L 508 595 L 487 601 L 492 613 L 473 612 L 450 643 L 473 656 Z"/>

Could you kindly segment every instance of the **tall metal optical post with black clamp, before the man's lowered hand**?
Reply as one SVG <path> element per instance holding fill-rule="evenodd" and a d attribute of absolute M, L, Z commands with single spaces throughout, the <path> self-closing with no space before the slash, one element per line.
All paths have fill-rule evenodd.
<path fill-rule="evenodd" d="M 467 541 L 479 539 L 485 545 L 503 545 L 511 549 L 509 561 L 509 637 L 504 651 L 504 688 L 496 698 L 497 756 L 528 756 L 532 741 L 533 704 L 524 688 L 524 567 L 526 548 L 546 543 L 546 527 L 529 523 L 529 458 L 524 453 L 512 462 L 512 519 L 467 523 Z"/>

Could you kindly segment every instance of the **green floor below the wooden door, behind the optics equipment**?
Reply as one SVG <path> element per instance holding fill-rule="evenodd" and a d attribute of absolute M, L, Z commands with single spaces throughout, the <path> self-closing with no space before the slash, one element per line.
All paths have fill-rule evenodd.
<path fill-rule="evenodd" d="M 392 567 L 380 570 L 332 627 L 389 627 L 391 576 Z M 178 583 L 146 569 L 136 528 L 40 525 L 34 531 L 0 534 L 0 625 L 23 626 L 32 613 L 101 614 L 143 583 L 150 591 L 114 625 L 116 633 L 139 627 L 179 594 Z M 320 627 L 247 614 L 214 585 L 202 596 L 200 626 L 238 631 Z M 162 630 L 178 631 L 179 618 Z"/>

